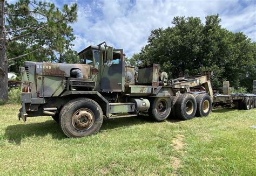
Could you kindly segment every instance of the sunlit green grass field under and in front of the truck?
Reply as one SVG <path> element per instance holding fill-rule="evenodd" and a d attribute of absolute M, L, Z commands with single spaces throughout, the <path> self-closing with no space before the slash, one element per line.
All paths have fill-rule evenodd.
<path fill-rule="evenodd" d="M 18 121 L 0 106 L 0 175 L 256 175 L 256 109 L 204 118 L 106 120 L 95 136 L 69 139 L 51 117 Z"/>

